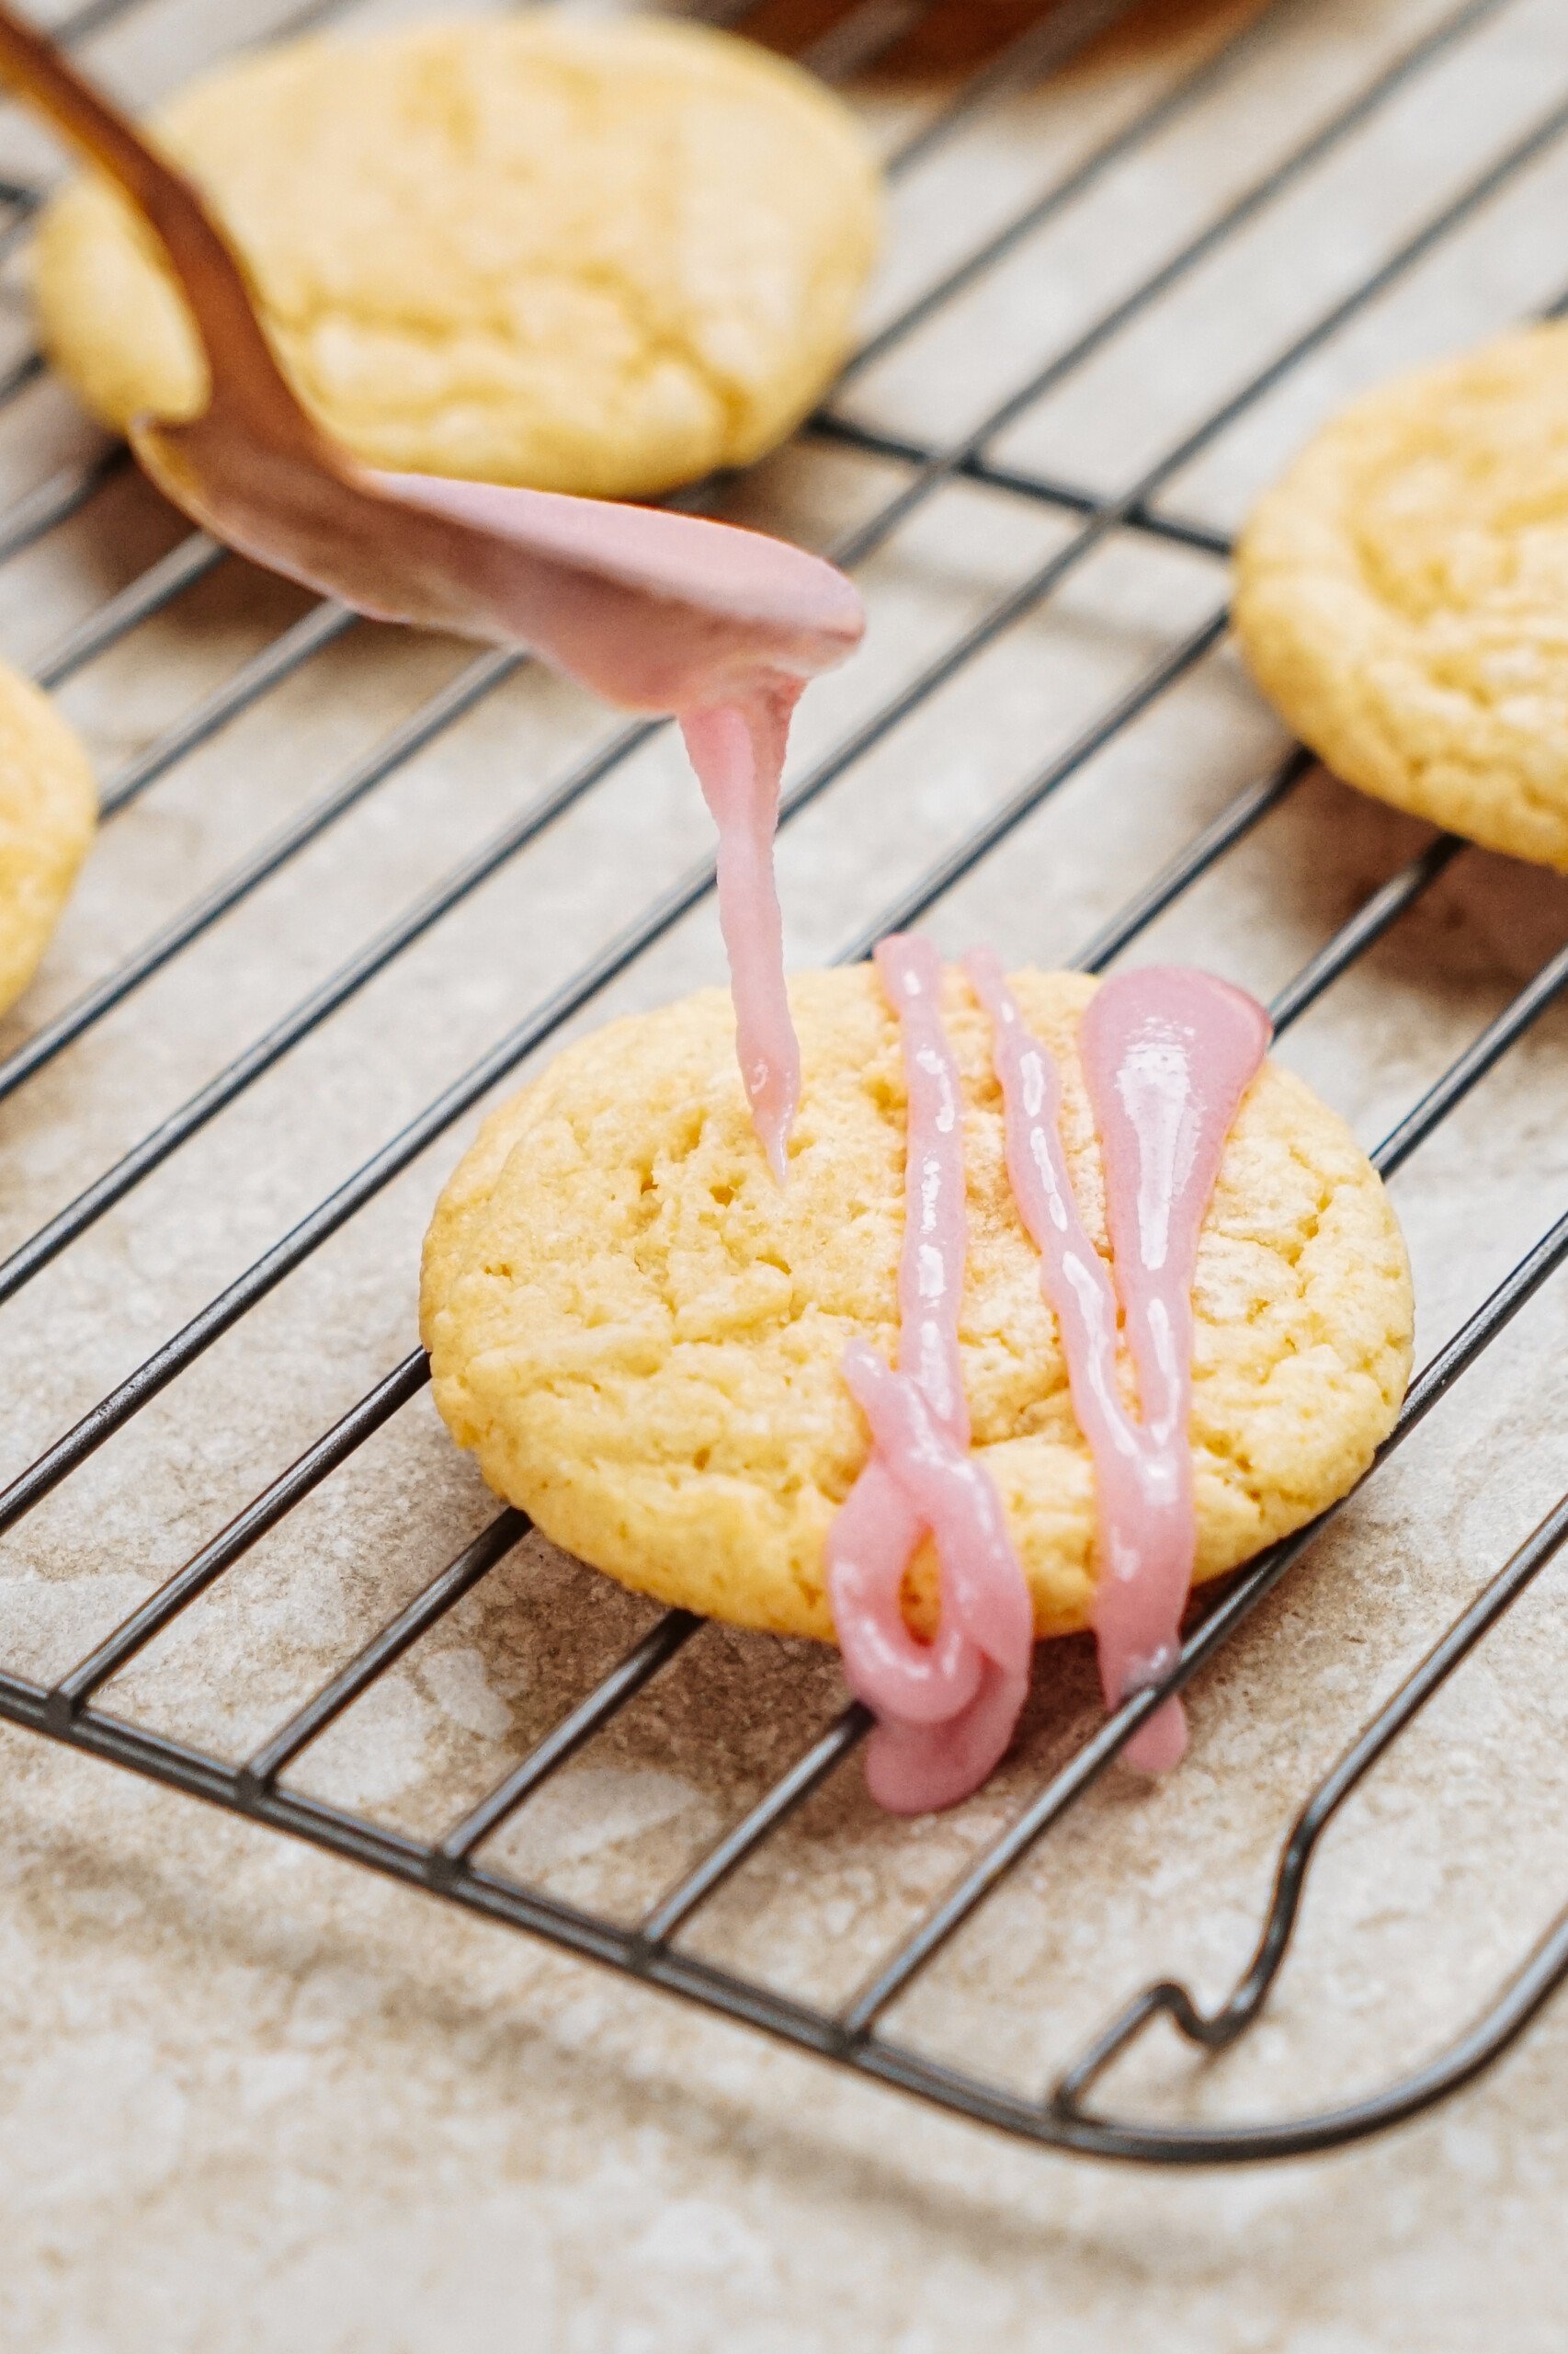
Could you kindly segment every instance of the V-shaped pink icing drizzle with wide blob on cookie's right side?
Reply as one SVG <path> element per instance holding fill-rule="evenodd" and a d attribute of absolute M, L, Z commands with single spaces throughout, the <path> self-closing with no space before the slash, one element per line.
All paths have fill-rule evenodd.
<path fill-rule="evenodd" d="M 1208 972 L 1116 975 L 1083 1017 L 1083 1078 L 1104 1156 L 1116 1288 L 1083 1231 L 1059 1137 L 1062 1088 L 1029 1036 L 1001 963 L 968 958 L 994 1022 L 1008 1125 L 1008 1175 L 1041 1252 L 1074 1412 L 1095 1459 L 1099 1582 L 1095 1636 L 1107 1707 L 1154 1683 L 1175 1660 L 1191 1591 L 1191 1285 L 1198 1233 L 1224 1139 L 1269 1048 L 1269 1017 Z M 1116 1295 L 1142 1412 L 1116 1384 Z M 1180 1700 L 1165 1702 L 1125 1756 L 1165 1773 L 1187 1747 Z"/>

